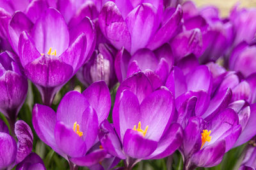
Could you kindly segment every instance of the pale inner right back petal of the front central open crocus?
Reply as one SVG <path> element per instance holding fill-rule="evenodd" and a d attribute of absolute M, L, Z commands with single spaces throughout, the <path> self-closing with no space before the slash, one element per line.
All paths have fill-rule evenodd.
<path fill-rule="evenodd" d="M 164 129 L 170 125 L 169 120 L 173 117 L 174 106 L 172 93 L 168 90 L 157 90 L 146 97 L 140 107 L 141 129 L 145 129 L 148 125 L 148 131 L 145 137 L 159 141 Z"/>

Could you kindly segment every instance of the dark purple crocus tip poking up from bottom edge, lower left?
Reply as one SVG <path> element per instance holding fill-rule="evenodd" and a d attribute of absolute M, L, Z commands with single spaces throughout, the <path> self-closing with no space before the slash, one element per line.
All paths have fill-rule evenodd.
<path fill-rule="evenodd" d="M 22 162 L 20 162 L 17 167 L 17 170 L 46 170 L 43 160 L 36 154 L 30 153 Z"/>

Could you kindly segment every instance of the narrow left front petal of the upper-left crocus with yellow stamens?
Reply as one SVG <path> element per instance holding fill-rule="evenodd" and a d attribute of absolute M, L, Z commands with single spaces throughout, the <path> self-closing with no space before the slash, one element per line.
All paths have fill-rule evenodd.
<path fill-rule="evenodd" d="M 22 32 L 19 38 L 19 57 L 22 66 L 26 66 L 29 62 L 32 62 L 40 56 L 40 53 L 36 50 L 28 33 Z"/>

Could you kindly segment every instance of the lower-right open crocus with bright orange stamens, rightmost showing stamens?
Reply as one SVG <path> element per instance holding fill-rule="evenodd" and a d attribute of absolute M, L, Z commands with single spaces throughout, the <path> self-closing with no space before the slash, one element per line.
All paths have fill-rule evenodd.
<path fill-rule="evenodd" d="M 201 117 L 189 118 L 180 146 L 184 169 L 220 164 L 223 155 L 232 148 L 240 134 L 241 125 L 232 109 L 221 111 L 207 122 Z"/>

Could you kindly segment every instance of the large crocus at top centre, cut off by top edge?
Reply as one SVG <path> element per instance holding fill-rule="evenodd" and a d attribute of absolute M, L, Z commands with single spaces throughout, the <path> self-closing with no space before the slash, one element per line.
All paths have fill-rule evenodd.
<path fill-rule="evenodd" d="M 124 46 L 131 55 L 140 48 L 155 50 L 176 34 L 182 18 L 180 6 L 162 18 L 160 1 L 132 2 L 109 1 L 99 14 L 102 33 L 118 50 Z"/>

